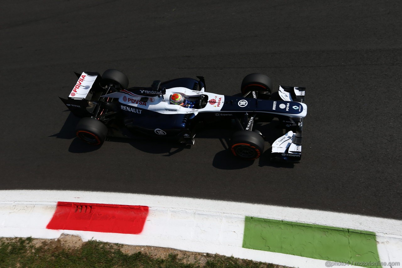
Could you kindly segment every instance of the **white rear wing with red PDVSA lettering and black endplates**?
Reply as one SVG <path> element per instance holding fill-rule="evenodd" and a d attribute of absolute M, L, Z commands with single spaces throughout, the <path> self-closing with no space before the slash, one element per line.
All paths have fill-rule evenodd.
<path fill-rule="evenodd" d="M 102 91 L 99 85 L 102 78 L 97 72 L 82 72 L 81 74 L 75 72 L 75 74 L 78 80 L 70 94 L 67 99 L 61 97 L 60 99 L 74 115 L 78 117 L 90 117 L 93 107 L 89 107 L 88 101 L 92 94 L 88 95 L 88 93 Z"/>

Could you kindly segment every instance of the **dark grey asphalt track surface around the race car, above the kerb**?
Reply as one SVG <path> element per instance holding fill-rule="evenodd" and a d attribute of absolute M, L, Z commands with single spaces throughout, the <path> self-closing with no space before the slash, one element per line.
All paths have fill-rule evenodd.
<path fill-rule="evenodd" d="M 0 189 L 129 192 L 402 219 L 402 4 L 389 1 L 8 1 L 0 16 Z M 232 157 L 230 133 L 191 148 L 75 138 L 73 71 L 130 85 L 205 76 L 234 95 L 252 72 L 306 87 L 302 161 Z M 275 137 L 276 138 L 276 137 Z M 272 138 L 271 138 L 272 140 Z"/>

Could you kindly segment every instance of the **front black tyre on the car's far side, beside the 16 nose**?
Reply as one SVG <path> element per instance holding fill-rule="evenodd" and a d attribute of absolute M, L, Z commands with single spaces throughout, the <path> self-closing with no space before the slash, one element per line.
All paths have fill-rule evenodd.
<path fill-rule="evenodd" d="M 241 91 L 243 95 L 250 91 L 257 91 L 258 99 L 269 99 L 272 92 L 272 80 L 265 74 L 248 74 L 242 81 Z"/>

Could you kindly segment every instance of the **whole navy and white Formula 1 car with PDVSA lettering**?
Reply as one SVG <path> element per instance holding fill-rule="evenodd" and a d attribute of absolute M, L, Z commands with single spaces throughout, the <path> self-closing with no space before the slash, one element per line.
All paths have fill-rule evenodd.
<path fill-rule="evenodd" d="M 102 76 L 97 72 L 76 75 L 78 81 L 70 95 L 60 99 L 82 118 L 76 135 L 89 144 L 100 145 L 107 137 L 117 136 L 117 130 L 128 138 L 142 134 L 194 144 L 197 130 L 205 122 L 231 120 L 238 128 L 230 140 L 231 153 L 242 159 L 257 159 L 265 140 L 254 123 L 278 118 L 285 134 L 273 142 L 271 160 L 300 162 L 303 118 L 307 114 L 304 87 L 279 86 L 279 91 L 272 93 L 271 79 L 254 73 L 244 77 L 242 96 L 236 97 L 206 92 L 202 76 L 197 76 L 198 80 L 156 80 L 150 87 L 128 88 L 127 76 L 115 69 L 106 70 Z M 180 97 L 181 103 L 174 103 L 173 97 Z"/>

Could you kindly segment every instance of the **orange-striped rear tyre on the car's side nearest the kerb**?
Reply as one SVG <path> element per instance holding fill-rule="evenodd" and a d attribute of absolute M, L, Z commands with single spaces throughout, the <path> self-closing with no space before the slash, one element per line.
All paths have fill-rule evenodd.
<path fill-rule="evenodd" d="M 102 145 L 107 132 L 107 126 L 95 118 L 82 118 L 76 127 L 77 137 L 92 145 Z"/>

